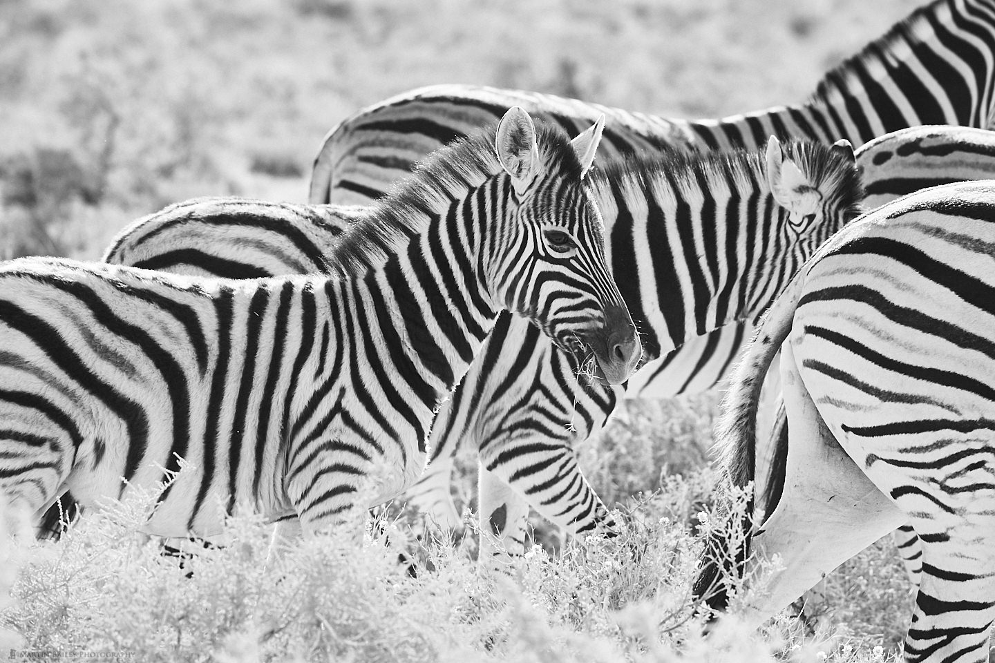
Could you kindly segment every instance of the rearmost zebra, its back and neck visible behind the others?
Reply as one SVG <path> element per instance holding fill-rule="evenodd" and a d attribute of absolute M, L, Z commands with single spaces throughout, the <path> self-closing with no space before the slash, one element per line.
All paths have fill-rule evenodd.
<path fill-rule="evenodd" d="M 607 117 L 602 163 L 639 152 L 760 149 L 767 136 L 862 145 L 919 124 L 986 127 L 995 86 L 995 0 L 934 0 L 829 72 L 803 103 L 686 120 L 552 94 L 442 84 L 402 92 L 334 126 L 314 159 L 308 200 L 367 204 L 411 165 L 492 123 L 509 105 L 573 135 Z"/>

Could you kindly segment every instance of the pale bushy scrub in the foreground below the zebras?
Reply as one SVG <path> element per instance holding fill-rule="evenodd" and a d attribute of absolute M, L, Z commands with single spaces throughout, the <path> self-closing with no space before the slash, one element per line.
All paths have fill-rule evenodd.
<path fill-rule="evenodd" d="M 254 517 L 233 518 L 223 546 L 197 547 L 181 569 L 141 533 L 152 497 L 111 503 L 58 543 L 3 533 L 0 637 L 22 657 L 141 661 L 891 660 L 874 633 L 811 635 L 786 614 L 753 634 L 733 609 L 702 637 L 690 594 L 700 540 L 684 513 L 707 480 L 671 477 L 616 512 L 616 538 L 531 547 L 513 578 L 480 575 L 468 549 L 432 539 L 413 577 L 396 522 L 365 536 L 348 524 L 265 568 L 271 529 Z M 710 508 L 698 527 L 716 526 Z"/>

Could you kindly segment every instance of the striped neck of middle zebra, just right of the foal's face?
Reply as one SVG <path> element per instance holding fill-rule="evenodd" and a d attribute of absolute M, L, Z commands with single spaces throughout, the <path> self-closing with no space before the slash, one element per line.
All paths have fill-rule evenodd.
<path fill-rule="evenodd" d="M 701 334 L 750 316 L 756 293 L 784 250 L 786 214 L 759 158 L 639 169 L 614 178 L 599 204 L 616 283 L 654 359 Z M 604 201 L 604 202 L 602 202 Z M 621 204 L 620 204 L 621 203 Z"/>

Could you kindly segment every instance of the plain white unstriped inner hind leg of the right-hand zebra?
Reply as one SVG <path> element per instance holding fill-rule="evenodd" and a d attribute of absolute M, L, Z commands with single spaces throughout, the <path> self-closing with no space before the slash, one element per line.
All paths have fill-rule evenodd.
<path fill-rule="evenodd" d="M 755 569 L 780 559 L 746 596 L 743 617 L 758 626 L 809 587 L 906 520 L 826 427 L 800 380 L 790 344 L 781 358 L 788 456 L 781 499 L 753 538 Z"/>

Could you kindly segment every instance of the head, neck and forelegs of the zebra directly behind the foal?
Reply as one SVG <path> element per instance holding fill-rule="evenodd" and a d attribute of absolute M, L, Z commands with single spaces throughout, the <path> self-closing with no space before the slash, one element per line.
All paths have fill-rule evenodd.
<path fill-rule="evenodd" d="M 776 139 L 765 155 L 631 159 L 599 173 L 593 186 L 615 276 L 651 366 L 702 334 L 751 324 L 804 260 L 856 216 L 861 198 L 849 145 L 793 143 L 782 151 Z M 502 351 L 509 341 L 521 349 Z M 435 488 L 422 503 L 452 522 L 450 448 L 466 431 L 480 440 L 482 527 L 497 522 L 492 533 L 505 552 L 521 550 L 525 523 L 504 515 L 527 515 L 527 506 L 571 533 L 610 526 L 574 448 L 604 424 L 621 390 L 585 387 L 577 373 L 576 362 L 529 334 L 527 323 L 499 320 L 452 407 L 437 417 L 432 460 L 410 495 Z"/>

